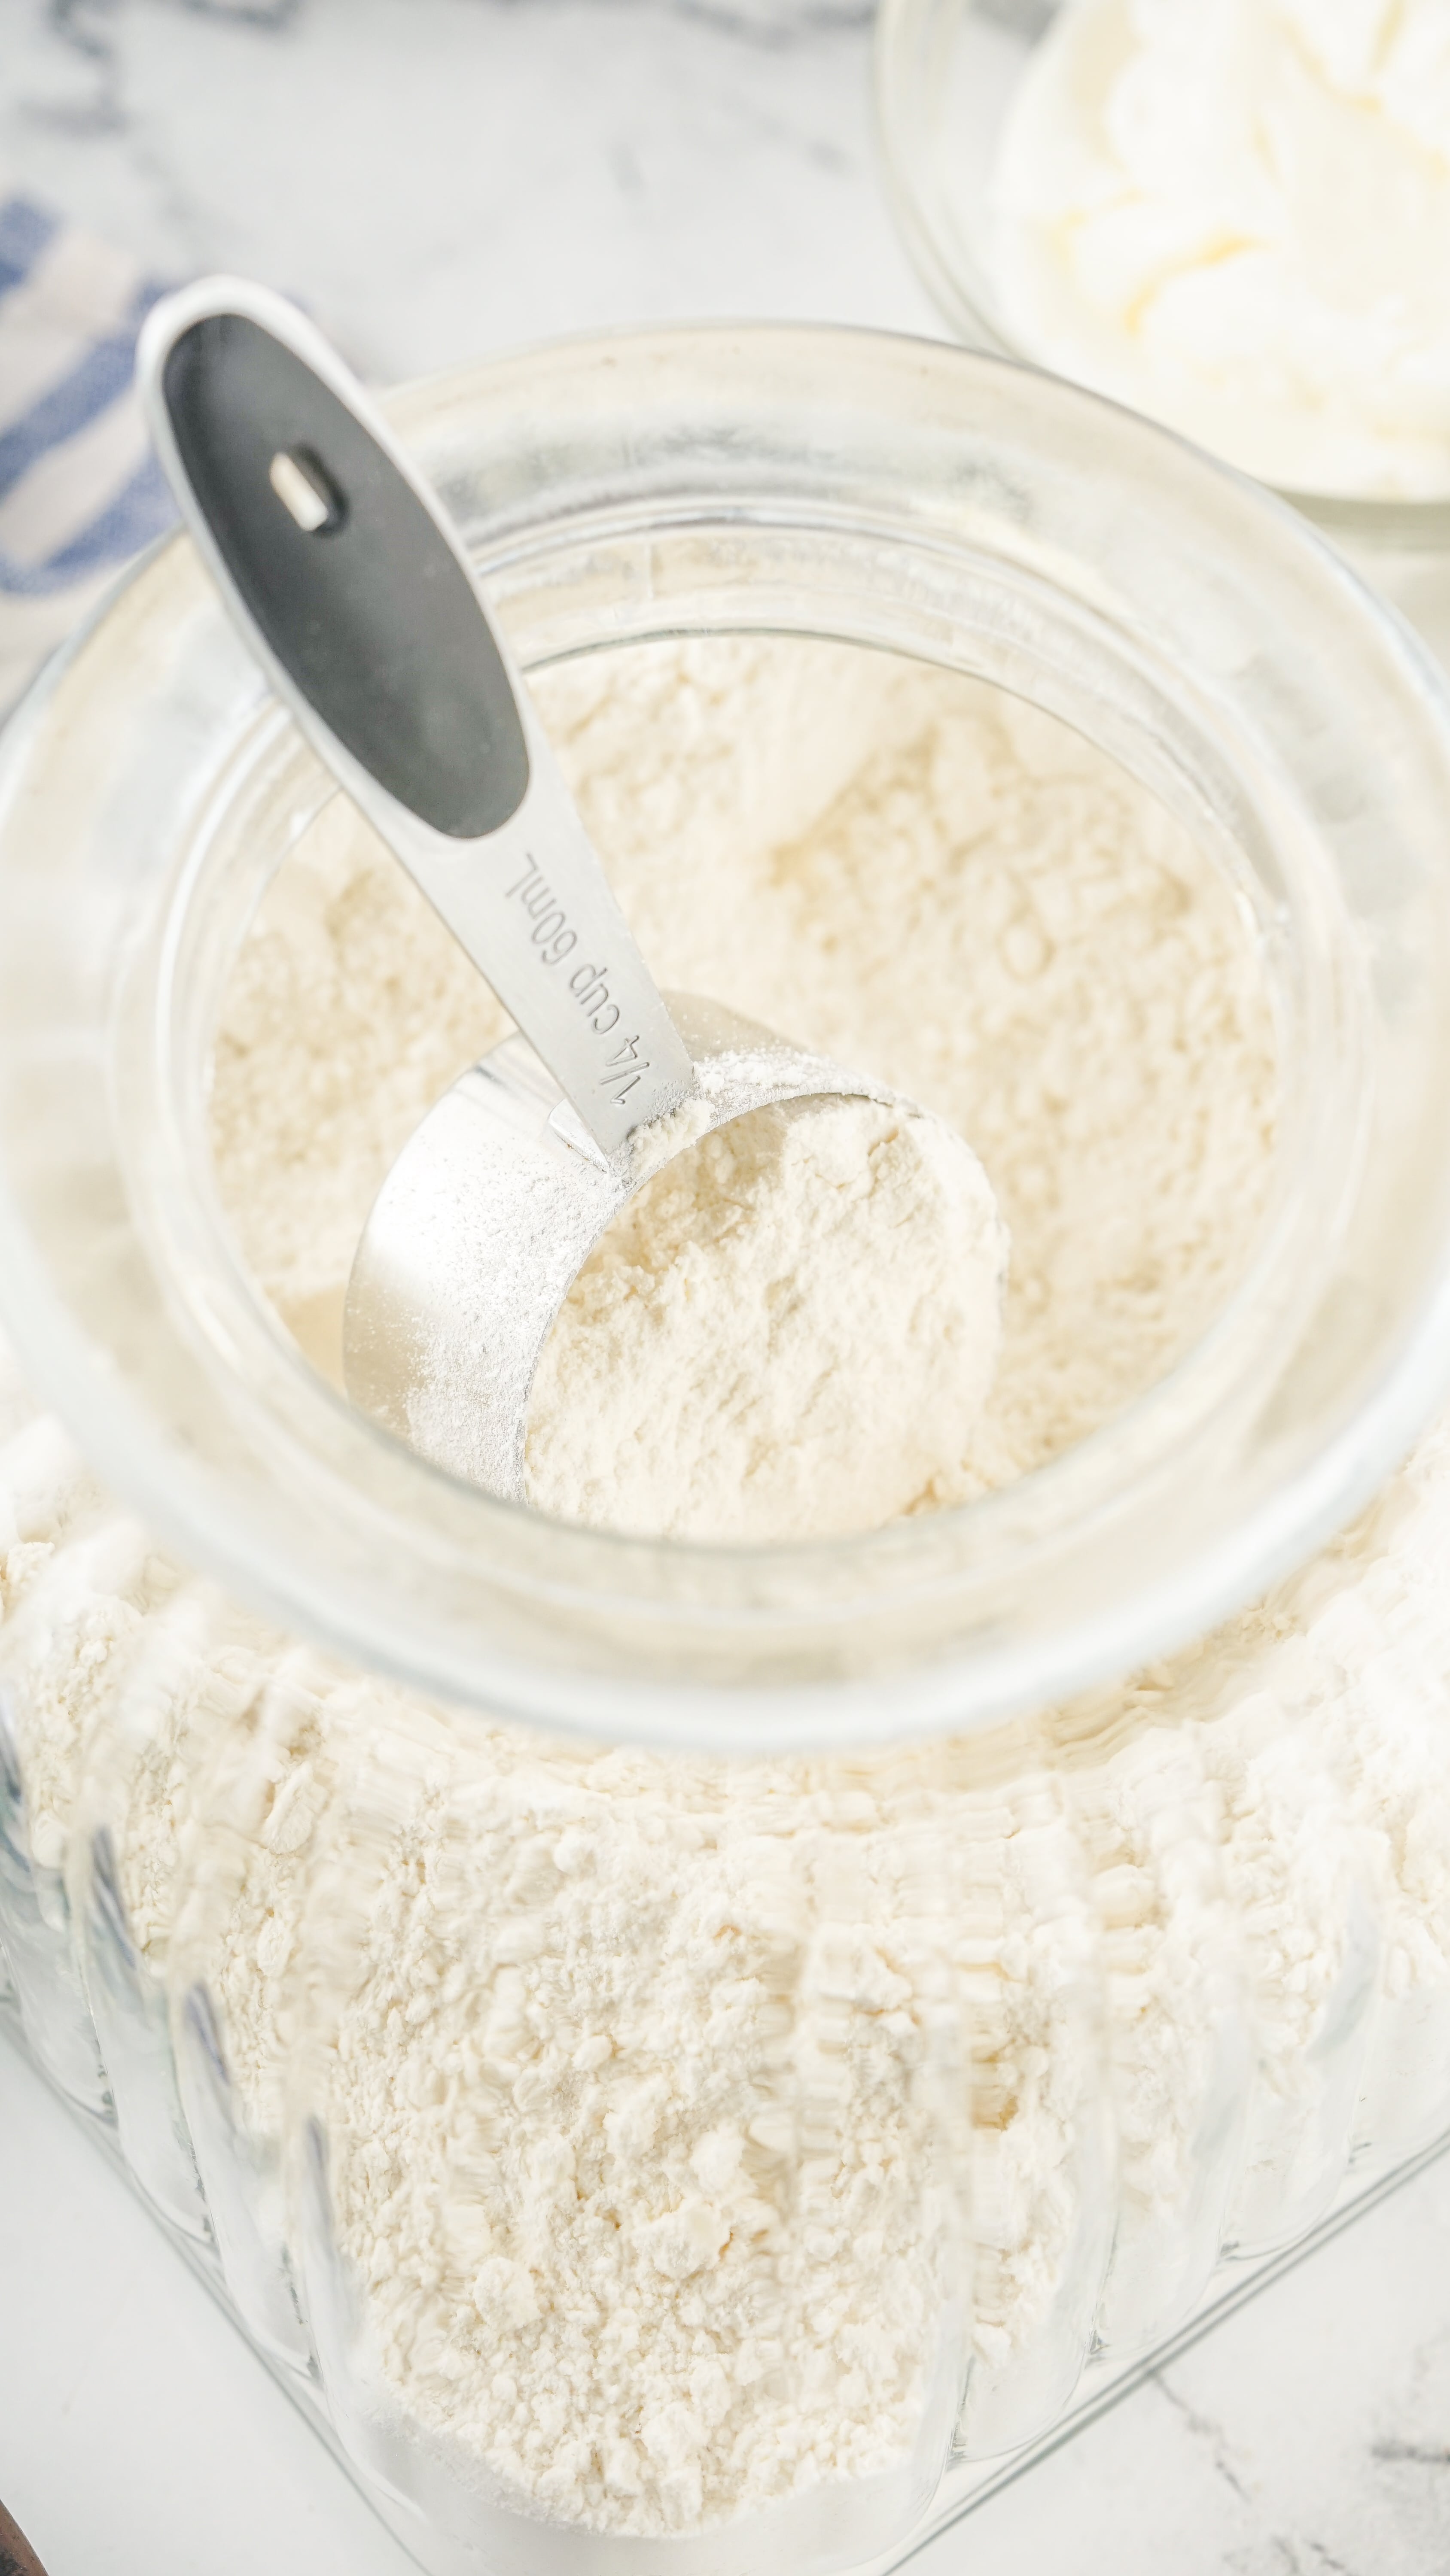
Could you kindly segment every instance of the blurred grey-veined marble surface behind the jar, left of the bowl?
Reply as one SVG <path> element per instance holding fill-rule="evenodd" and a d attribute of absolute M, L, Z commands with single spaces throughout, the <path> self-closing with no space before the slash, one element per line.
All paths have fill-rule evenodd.
<path fill-rule="evenodd" d="M 701 314 L 937 330 L 865 0 L 0 0 L 0 175 L 384 381 Z"/>

